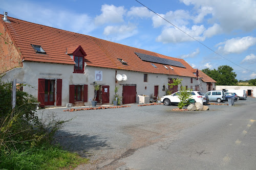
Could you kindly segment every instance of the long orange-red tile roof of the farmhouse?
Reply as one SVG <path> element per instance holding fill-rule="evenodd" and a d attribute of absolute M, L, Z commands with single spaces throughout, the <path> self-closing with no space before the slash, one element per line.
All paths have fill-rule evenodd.
<path fill-rule="evenodd" d="M 3 17 L 3 15 L 0 16 Z M 76 50 L 81 45 L 87 54 L 85 62 L 89 66 L 196 77 L 193 71 L 191 71 L 193 68 L 183 59 L 168 57 L 139 48 L 42 26 L 12 17 L 8 17 L 8 19 L 10 23 L 4 22 L 4 24 L 20 49 L 25 61 L 74 64 L 74 61 L 67 53 L 72 53 L 72 50 Z M 41 45 L 46 54 L 35 53 L 31 44 Z M 151 62 L 142 61 L 134 52 L 179 61 L 186 68 L 172 66 L 174 68 L 172 70 L 170 68 L 166 69 L 163 64 L 154 63 L 157 66 L 155 68 L 151 65 Z M 117 58 L 123 59 L 123 61 L 127 62 L 127 65 L 123 65 Z"/>

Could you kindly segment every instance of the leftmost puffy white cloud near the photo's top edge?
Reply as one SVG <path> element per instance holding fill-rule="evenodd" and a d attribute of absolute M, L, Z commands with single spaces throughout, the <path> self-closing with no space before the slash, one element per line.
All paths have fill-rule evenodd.
<path fill-rule="evenodd" d="M 95 17 L 96 25 L 103 25 L 104 23 L 120 23 L 123 22 L 123 15 L 126 10 L 124 7 L 116 7 L 114 5 L 102 5 L 101 14 Z"/>

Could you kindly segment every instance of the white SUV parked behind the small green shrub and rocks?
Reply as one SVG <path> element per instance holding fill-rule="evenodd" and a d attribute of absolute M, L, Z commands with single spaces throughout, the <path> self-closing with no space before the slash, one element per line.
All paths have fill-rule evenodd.
<path fill-rule="evenodd" d="M 206 97 L 203 92 L 201 91 L 187 91 L 187 92 L 190 92 L 192 94 L 191 99 L 195 99 L 196 102 L 206 104 Z M 161 102 L 166 106 L 177 105 L 178 103 L 180 103 L 180 99 L 178 98 L 179 94 L 180 92 L 177 91 L 170 95 L 164 95 L 161 98 Z"/>

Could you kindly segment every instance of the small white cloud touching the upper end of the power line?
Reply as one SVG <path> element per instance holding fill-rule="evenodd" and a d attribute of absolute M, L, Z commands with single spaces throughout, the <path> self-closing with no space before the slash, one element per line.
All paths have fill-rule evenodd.
<path fill-rule="evenodd" d="M 140 18 L 149 18 L 153 15 L 154 13 L 146 7 L 132 7 L 130 11 L 127 12 L 127 16 L 138 16 Z"/>

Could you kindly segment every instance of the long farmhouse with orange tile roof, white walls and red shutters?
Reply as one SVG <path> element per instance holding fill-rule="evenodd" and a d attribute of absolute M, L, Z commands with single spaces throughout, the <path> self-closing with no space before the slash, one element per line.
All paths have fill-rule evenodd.
<path fill-rule="evenodd" d="M 95 84 L 98 104 L 112 104 L 116 86 L 122 104 L 136 103 L 137 94 L 161 98 L 176 78 L 193 90 L 215 88 L 215 80 L 183 59 L 0 16 L 2 81 L 29 84 L 23 90 L 42 107 L 89 105 Z"/>

